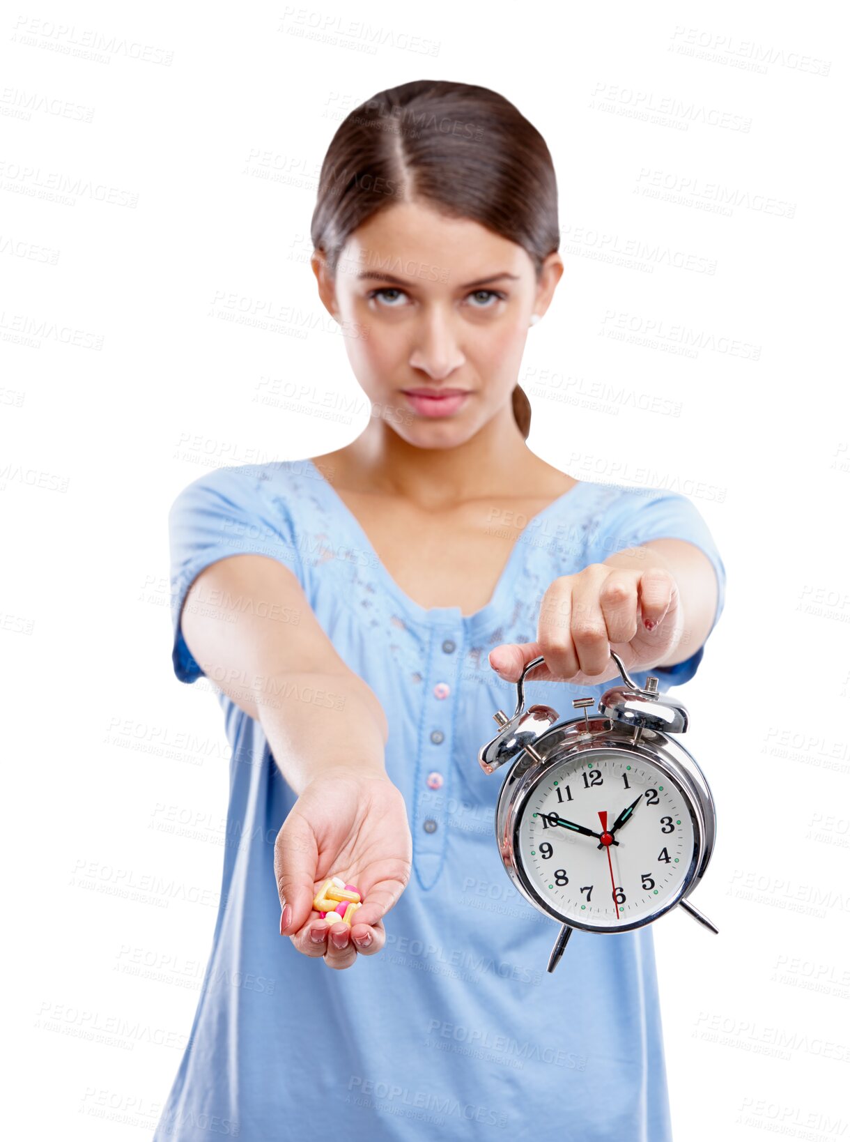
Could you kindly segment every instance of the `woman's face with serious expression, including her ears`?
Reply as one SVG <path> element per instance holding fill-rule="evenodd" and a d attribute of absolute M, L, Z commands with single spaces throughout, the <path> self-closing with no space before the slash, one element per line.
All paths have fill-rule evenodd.
<path fill-rule="evenodd" d="M 549 306 L 564 270 L 557 254 L 537 283 L 523 247 L 405 202 L 351 234 L 333 279 L 316 255 L 314 270 L 373 416 L 399 436 L 454 448 L 499 412 L 515 424 L 510 401 L 528 321 Z M 464 395 L 411 395 L 424 389 Z"/>

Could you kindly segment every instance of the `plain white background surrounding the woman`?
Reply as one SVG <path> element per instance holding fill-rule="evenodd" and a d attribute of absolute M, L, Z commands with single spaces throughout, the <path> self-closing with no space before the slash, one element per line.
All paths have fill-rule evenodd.
<path fill-rule="evenodd" d="M 654 930 L 674 1136 L 848 1128 L 837 16 L 439 0 L 2 17 L 10 1136 L 153 1133 L 227 798 L 219 707 L 171 670 L 168 508 L 209 467 L 319 455 L 367 423 L 307 265 L 316 176 L 350 110 L 422 78 L 495 88 L 554 159 L 566 273 L 519 378 L 531 448 L 690 496 L 728 571 L 679 691 L 719 817 L 694 902 L 720 934 L 681 909 Z M 169 815 L 189 823 L 164 831 Z"/>

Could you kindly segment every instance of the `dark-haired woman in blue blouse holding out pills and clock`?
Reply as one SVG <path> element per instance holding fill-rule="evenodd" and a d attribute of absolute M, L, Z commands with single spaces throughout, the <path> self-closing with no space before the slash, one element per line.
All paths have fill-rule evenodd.
<path fill-rule="evenodd" d="M 620 677 L 612 648 L 640 683 L 691 678 L 723 564 L 685 497 L 525 444 L 562 263 L 551 156 L 504 98 L 421 81 L 351 112 L 311 236 L 366 429 L 202 476 L 170 515 L 175 670 L 220 687 L 233 758 L 156 1139 L 665 1142 L 651 931 L 576 931 L 547 973 L 558 925 L 505 876 L 477 751 L 540 653 L 527 700 L 562 716 Z M 363 894 L 350 928 L 313 910 L 333 875 Z"/>

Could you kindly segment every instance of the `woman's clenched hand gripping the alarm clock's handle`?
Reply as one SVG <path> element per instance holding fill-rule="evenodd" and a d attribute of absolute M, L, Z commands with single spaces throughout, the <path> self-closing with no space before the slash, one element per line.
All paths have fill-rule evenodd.
<path fill-rule="evenodd" d="M 532 659 L 545 662 L 526 675 L 532 682 L 599 685 L 620 678 L 614 650 L 626 671 L 645 670 L 667 657 L 681 638 L 679 588 L 670 571 L 591 563 L 576 574 L 559 576 L 537 619 L 537 641 L 501 643 L 489 665 L 516 682 Z"/>

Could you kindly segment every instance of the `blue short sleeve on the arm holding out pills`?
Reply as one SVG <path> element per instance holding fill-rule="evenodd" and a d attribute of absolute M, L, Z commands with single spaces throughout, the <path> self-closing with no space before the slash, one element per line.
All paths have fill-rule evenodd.
<path fill-rule="evenodd" d="M 218 468 L 188 484 L 168 516 L 171 633 L 175 674 L 180 682 L 203 675 L 180 628 L 180 610 L 195 578 L 228 555 L 280 560 L 306 587 L 292 512 L 286 498 L 266 490 L 266 476 L 252 465 Z"/>

